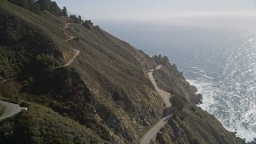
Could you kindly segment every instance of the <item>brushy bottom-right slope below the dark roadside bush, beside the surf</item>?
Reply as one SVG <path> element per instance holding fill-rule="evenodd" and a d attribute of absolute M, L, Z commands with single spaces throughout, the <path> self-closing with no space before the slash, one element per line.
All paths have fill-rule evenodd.
<path fill-rule="evenodd" d="M 241 138 L 236 138 L 234 133 L 225 130 L 213 115 L 190 102 L 187 102 L 182 111 L 174 117 L 160 130 L 156 142 L 245 143 Z"/>

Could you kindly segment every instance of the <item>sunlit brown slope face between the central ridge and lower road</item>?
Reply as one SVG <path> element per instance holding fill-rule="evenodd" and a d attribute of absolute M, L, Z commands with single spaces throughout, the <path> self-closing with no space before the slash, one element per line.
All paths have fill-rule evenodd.
<path fill-rule="evenodd" d="M 86 30 L 72 24 L 68 30 L 79 38 L 70 42 L 81 50 L 74 68 L 94 94 L 95 111 L 116 133 L 138 141 L 144 126 L 162 116 L 163 102 L 144 72 L 154 62 L 96 27 Z"/>

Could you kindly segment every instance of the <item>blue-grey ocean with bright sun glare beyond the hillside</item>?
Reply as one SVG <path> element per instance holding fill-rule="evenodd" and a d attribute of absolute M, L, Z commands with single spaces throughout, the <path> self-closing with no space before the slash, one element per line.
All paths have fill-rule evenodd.
<path fill-rule="evenodd" d="M 184 20 L 185 19 L 185 20 Z M 256 17 L 184 18 L 175 22 L 98 22 L 143 50 L 170 58 L 203 96 L 199 105 L 227 130 L 256 138 Z"/>

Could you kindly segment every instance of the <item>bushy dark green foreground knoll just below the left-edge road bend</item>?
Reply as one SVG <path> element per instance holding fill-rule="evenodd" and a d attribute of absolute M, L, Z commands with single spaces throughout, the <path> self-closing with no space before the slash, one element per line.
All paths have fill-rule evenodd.
<path fill-rule="evenodd" d="M 0 122 L 1 143 L 98 143 L 104 142 L 86 126 L 30 103 L 29 110 Z"/>

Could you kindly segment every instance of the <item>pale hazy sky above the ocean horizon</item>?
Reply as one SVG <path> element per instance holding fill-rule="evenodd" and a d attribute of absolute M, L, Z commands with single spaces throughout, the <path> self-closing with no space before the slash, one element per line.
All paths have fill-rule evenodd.
<path fill-rule="evenodd" d="M 256 15 L 254 0 L 154 0 L 141 1 L 90 1 L 56 0 L 70 13 L 80 14 L 92 20 L 136 20 L 142 22 L 187 16 Z"/>

